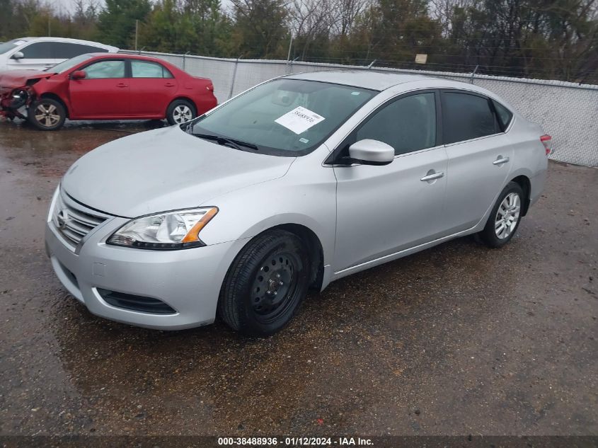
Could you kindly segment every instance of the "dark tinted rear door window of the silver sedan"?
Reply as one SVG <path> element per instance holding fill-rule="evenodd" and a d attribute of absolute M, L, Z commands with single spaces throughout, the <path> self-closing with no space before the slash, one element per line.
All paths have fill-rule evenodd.
<path fill-rule="evenodd" d="M 488 98 L 469 93 L 442 92 L 442 125 L 445 144 L 500 132 Z"/>

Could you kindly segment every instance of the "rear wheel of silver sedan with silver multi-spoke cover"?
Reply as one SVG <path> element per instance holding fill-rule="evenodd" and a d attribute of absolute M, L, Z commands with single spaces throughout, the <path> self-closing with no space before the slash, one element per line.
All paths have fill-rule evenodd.
<path fill-rule="evenodd" d="M 522 218 L 523 190 L 516 182 L 510 182 L 502 190 L 490 212 L 488 222 L 479 233 L 487 246 L 499 248 L 511 241 Z"/>

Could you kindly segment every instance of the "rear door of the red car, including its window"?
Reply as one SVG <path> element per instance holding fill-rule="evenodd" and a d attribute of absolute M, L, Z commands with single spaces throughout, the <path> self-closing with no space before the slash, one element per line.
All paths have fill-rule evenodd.
<path fill-rule="evenodd" d="M 131 114 L 139 118 L 163 118 L 176 96 L 178 82 L 158 62 L 130 59 Z"/>

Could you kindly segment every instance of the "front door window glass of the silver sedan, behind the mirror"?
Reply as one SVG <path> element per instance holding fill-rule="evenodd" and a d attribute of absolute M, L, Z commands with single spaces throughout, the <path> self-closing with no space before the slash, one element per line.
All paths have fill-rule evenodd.
<path fill-rule="evenodd" d="M 436 146 L 435 94 L 418 93 L 393 101 L 357 130 L 355 141 L 374 139 L 406 154 Z"/>

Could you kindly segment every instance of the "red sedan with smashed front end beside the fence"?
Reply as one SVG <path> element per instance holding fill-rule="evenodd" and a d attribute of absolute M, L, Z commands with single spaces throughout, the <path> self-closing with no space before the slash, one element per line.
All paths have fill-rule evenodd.
<path fill-rule="evenodd" d="M 212 81 L 162 59 L 81 54 L 46 71 L 0 72 L 0 115 L 40 130 L 64 120 L 162 120 L 182 123 L 217 105 Z"/>

